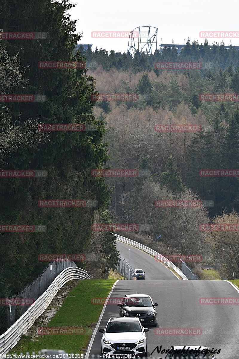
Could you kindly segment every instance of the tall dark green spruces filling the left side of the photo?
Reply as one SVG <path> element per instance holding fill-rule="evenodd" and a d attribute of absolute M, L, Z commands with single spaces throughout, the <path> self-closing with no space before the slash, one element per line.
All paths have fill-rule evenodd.
<path fill-rule="evenodd" d="M 5 160 L 5 170 L 47 171 L 46 178 L 0 182 L 1 223 L 47 226 L 45 233 L 1 233 L 0 260 L 11 293 L 22 289 L 46 266 L 38 261 L 39 253 L 84 253 L 91 238 L 94 207 L 41 208 L 39 200 L 89 199 L 104 208 L 109 197 L 104 178 L 91 176 L 91 169 L 100 168 L 108 159 L 104 124 L 92 114 L 95 79 L 87 76 L 86 69 L 38 67 L 39 61 L 82 61 L 79 53 L 73 55 L 80 39 L 75 34 L 76 22 L 68 16 L 73 6 L 68 0 L 28 0 L 24 4 L 3 0 L 1 4 L 4 32 L 47 33 L 47 38 L 40 40 L 4 40 L 9 56 L 19 53 L 20 63 L 27 69 L 28 85 L 15 93 L 47 97 L 45 102 L 6 104 L 11 116 L 17 119 L 21 113 L 23 123 L 30 117 L 42 123 L 85 123 L 96 128 L 50 132 L 49 141 L 40 149 L 19 149 Z M 3 288 L 1 295 L 4 292 Z"/>

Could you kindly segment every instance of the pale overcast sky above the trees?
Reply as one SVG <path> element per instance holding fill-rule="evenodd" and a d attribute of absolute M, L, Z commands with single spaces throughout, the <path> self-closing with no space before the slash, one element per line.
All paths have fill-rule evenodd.
<path fill-rule="evenodd" d="M 127 32 L 148 25 L 158 28 L 157 45 L 171 44 L 172 41 L 183 44 L 188 37 L 190 42 L 197 39 L 203 43 L 205 37 L 201 38 L 200 32 L 234 31 L 234 34 L 229 34 L 234 38 L 223 38 L 225 35 L 220 34 L 220 38 L 208 38 L 208 41 L 210 45 L 224 41 L 225 45 L 231 43 L 239 46 L 238 0 L 90 0 L 89 3 L 71 0 L 71 4 L 76 4 L 70 12 L 72 20 L 78 19 L 76 32 L 83 32 L 79 43 L 93 44 L 93 51 L 95 47 L 102 47 L 107 51 L 126 52 L 129 41 Z M 110 31 L 118 32 L 117 36 L 120 37 L 99 38 L 99 32 Z M 92 32 L 98 37 L 92 37 Z"/>

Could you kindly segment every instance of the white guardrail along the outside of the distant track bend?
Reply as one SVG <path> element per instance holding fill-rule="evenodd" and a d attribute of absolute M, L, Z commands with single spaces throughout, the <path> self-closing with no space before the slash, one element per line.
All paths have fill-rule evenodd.
<path fill-rule="evenodd" d="M 152 250 L 149 247 L 144 246 L 141 243 L 132 241 L 132 239 L 128 239 L 128 238 L 125 238 L 125 237 L 122 237 L 122 236 L 118 236 L 118 234 L 115 234 L 115 233 L 113 233 L 113 234 L 114 234 L 115 237 L 117 237 L 117 241 L 120 241 L 120 242 L 123 242 L 123 243 L 126 243 L 126 244 L 130 244 L 130 246 L 133 246 L 135 248 L 139 248 L 143 252 L 151 254 L 152 256 L 155 257 L 156 260 L 166 264 L 167 267 L 169 267 L 169 268 L 173 269 L 175 272 L 177 272 L 177 274 L 179 274 L 182 279 L 188 280 L 186 275 L 183 274 L 183 272 L 178 267 L 176 267 L 175 264 L 173 264 L 171 261 L 169 261 L 166 257 L 162 256 L 162 254 L 159 254 L 158 252 Z"/>

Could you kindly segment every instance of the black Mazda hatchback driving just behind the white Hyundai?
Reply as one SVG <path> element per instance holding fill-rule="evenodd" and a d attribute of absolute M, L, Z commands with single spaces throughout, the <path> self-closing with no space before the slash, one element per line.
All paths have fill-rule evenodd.
<path fill-rule="evenodd" d="M 152 298 L 148 294 L 127 294 L 124 296 L 120 307 L 120 317 L 139 318 L 143 326 L 157 326 L 157 312 L 154 307 L 158 303 L 153 303 Z"/>

